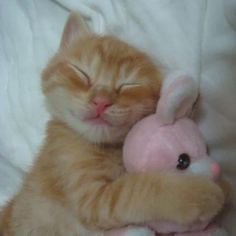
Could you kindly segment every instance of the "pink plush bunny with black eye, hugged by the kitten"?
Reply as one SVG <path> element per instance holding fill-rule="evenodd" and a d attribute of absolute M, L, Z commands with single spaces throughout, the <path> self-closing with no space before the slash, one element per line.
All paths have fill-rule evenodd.
<path fill-rule="evenodd" d="M 196 124 L 185 116 L 196 99 L 196 85 L 180 77 L 163 88 L 157 114 L 138 122 L 129 132 L 123 149 L 127 171 L 177 171 L 199 174 L 216 180 L 219 165 L 207 155 L 207 148 Z M 111 230 L 108 236 L 209 236 L 227 235 L 209 222 L 183 226 L 173 222 L 150 222 Z"/>

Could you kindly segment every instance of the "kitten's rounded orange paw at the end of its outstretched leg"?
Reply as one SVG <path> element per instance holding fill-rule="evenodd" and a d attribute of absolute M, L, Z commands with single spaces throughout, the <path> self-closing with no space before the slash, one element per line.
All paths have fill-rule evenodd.
<path fill-rule="evenodd" d="M 224 194 L 213 181 L 198 176 L 181 175 L 173 178 L 175 179 L 172 180 L 172 187 L 166 189 L 169 194 L 165 191 L 171 213 L 168 216 L 169 220 L 181 224 L 199 220 L 206 222 L 221 210 Z"/>

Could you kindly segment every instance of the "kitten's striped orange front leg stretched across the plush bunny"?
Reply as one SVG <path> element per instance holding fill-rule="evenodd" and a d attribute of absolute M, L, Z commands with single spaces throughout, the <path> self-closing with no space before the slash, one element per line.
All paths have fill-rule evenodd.
<path fill-rule="evenodd" d="M 206 178 L 133 173 L 112 180 L 97 169 L 93 174 L 81 173 L 67 191 L 87 227 L 106 230 L 159 219 L 188 224 L 211 219 L 224 202 L 221 189 Z"/>

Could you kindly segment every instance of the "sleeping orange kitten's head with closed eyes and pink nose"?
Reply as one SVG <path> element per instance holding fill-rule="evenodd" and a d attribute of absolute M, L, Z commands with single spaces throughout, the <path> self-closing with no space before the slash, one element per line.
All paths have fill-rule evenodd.
<path fill-rule="evenodd" d="M 144 53 L 90 33 L 76 14 L 42 75 L 52 116 L 95 143 L 122 142 L 136 121 L 155 111 L 160 84 Z"/>

